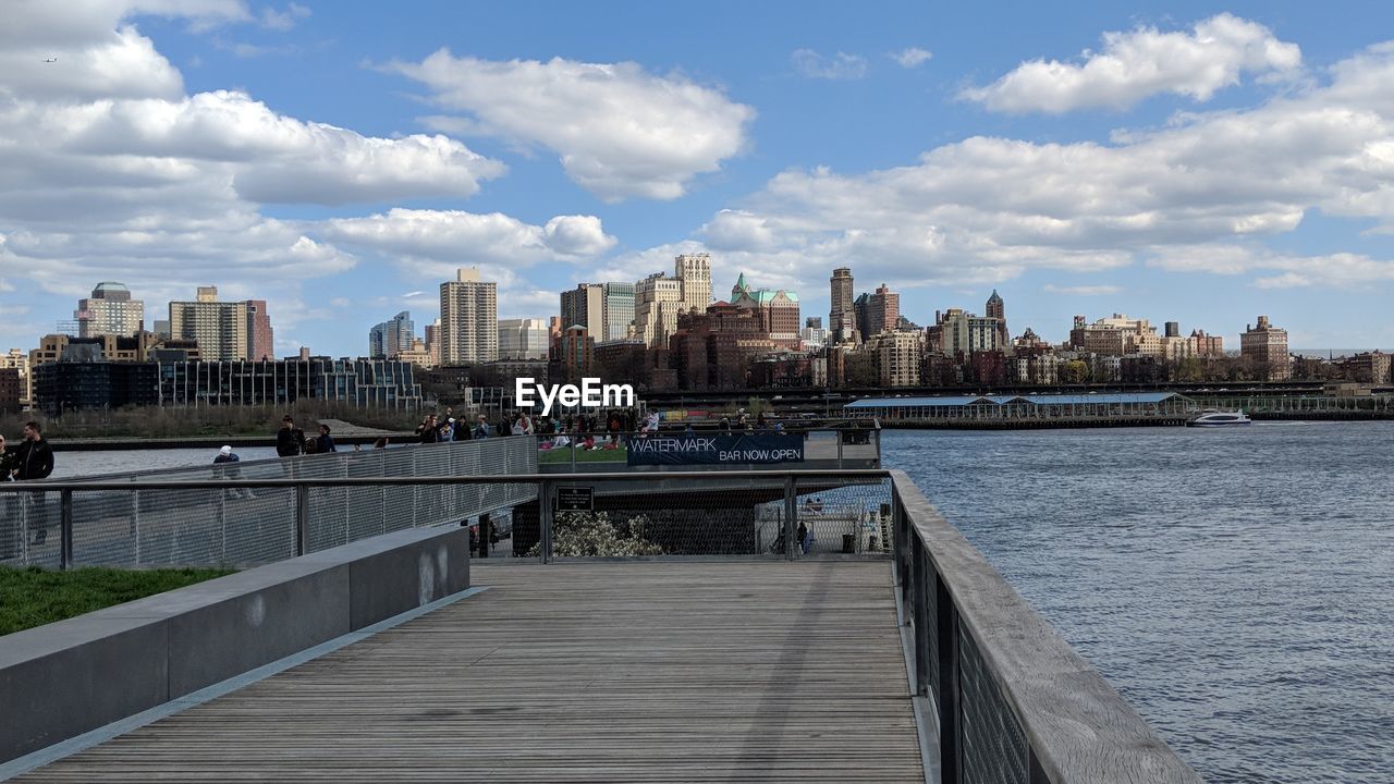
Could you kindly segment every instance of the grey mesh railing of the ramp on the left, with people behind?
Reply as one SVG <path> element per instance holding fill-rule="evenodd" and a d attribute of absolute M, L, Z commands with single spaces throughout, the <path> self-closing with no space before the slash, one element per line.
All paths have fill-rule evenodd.
<path fill-rule="evenodd" d="M 0 483 L 0 564 L 268 564 L 516 506 L 535 488 L 488 477 L 535 472 L 531 439 L 491 438 Z"/>

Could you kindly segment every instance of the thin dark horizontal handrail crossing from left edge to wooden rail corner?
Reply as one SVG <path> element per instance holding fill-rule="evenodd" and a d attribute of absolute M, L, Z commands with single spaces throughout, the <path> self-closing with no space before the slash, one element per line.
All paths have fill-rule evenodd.
<path fill-rule="evenodd" d="M 205 470 L 216 473 L 241 463 L 219 463 Z M 60 492 L 109 491 L 109 490 L 231 490 L 240 487 L 393 487 L 393 485 L 435 485 L 435 484 L 559 484 L 567 481 L 669 481 L 721 478 L 760 478 L 783 481 L 786 478 L 859 478 L 884 480 L 891 477 L 885 469 L 796 469 L 796 470 L 740 470 L 740 472 L 606 472 L 606 473 L 556 473 L 556 474 L 461 474 L 421 477 L 284 477 L 284 478 L 210 478 L 183 481 L 106 481 L 106 480 L 33 480 L 0 483 L 0 492 Z"/>

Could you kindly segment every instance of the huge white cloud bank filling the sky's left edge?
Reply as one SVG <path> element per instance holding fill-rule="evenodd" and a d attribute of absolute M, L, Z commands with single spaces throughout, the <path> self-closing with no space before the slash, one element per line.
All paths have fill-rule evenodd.
<path fill-rule="evenodd" d="M 374 138 L 243 92 L 185 95 L 178 70 L 131 22 L 139 14 L 198 28 L 256 21 L 238 1 L 85 0 L 71 13 L 6 4 L 0 289 L 74 297 L 116 279 L 158 303 L 213 283 L 226 299 L 291 307 L 302 282 L 358 257 L 315 222 L 265 216 L 263 204 L 468 197 L 505 172 L 443 135 Z M 559 257 L 602 241 L 584 222 L 556 233 Z M 293 318 L 276 312 L 277 325 Z M 0 338 L 32 340 L 15 335 L 18 324 L 0 325 Z"/>

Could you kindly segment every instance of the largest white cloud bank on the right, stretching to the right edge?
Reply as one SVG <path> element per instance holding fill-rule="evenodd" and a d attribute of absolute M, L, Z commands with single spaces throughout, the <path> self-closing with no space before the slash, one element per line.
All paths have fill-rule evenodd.
<path fill-rule="evenodd" d="M 852 265 L 902 287 L 1149 259 L 1181 269 L 1165 248 L 1192 248 L 1186 258 L 1203 248 L 1199 269 L 1249 272 L 1270 287 L 1386 280 L 1377 259 L 1264 257 L 1257 266 L 1243 248 L 1295 230 L 1310 209 L 1394 230 L 1391 85 L 1394 45 L 1383 45 L 1337 64 L 1327 86 L 1111 144 L 970 137 L 894 169 L 792 169 L 698 236 L 723 255 L 782 264 L 792 254 L 810 271 Z"/>

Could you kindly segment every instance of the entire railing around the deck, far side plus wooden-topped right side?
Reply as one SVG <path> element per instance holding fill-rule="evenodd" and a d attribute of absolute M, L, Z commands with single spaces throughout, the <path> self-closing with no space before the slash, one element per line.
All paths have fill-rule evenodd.
<path fill-rule="evenodd" d="M 505 463 L 514 451 L 534 449 L 527 438 L 485 444 L 499 444 Z M 385 470 L 390 459 L 415 465 L 446 453 L 453 456 L 449 445 L 396 449 L 365 453 L 364 465 L 378 460 Z M 485 455 L 481 449 L 475 456 Z M 489 474 L 484 472 L 505 466 L 470 467 L 475 473 L 467 476 L 314 477 L 297 469 L 298 476 L 269 478 L 25 483 L 0 485 L 0 504 L 28 505 L 29 519 L 35 508 L 52 518 L 59 537 L 50 550 L 60 566 L 123 562 L 132 547 L 142 564 L 178 562 L 176 554 L 185 562 L 236 562 L 231 555 L 244 545 L 279 559 L 383 529 L 467 522 L 466 512 L 480 516 L 480 555 L 488 555 L 489 515 L 505 508 L 512 511 L 510 554 L 542 564 L 584 557 L 889 555 L 916 713 L 931 717 L 921 730 L 937 741 L 933 756 L 942 781 L 1200 781 L 903 472 Z M 247 491 L 255 495 L 234 495 Z M 36 501 L 40 495 L 45 502 Z M 354 523 L 361 512 L 354 505 L 375 499 L 382 518 Z M 421 519 L 401 515 L 389 522 L 383 508 L 392 502 L 410 502 Z M 243 504 L 268 516 L 234 519 L 231 511 Z M 155 530 L 152 508 L 171 511 Z M 322 518 L 333 525 L 325 529 Z M 245 536 L 234 536 L 234 529 Z M 524 536 L 528 541 L 520 545 Z M 169 537 L 183 544 L 170 545 Z"/>

